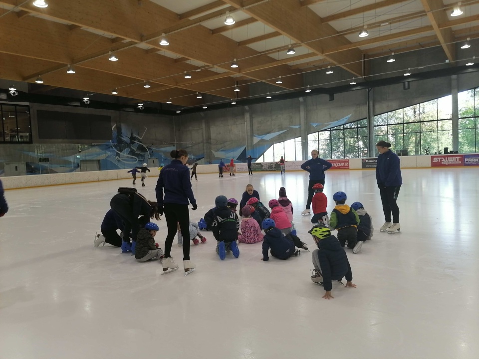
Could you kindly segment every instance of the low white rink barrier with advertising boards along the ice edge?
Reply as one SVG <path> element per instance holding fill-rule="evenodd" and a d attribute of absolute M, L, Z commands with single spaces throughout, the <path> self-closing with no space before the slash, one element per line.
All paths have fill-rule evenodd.
<path fill-rule="evenodd" d="M 468 160 L 472 161 L 471 165 L 463 166 L 454 166 L 452 164 L 443 164 L 441 167 L 432 166 L 433 163 L 438 163 L 436 158 L 448 158 L 448 157 L 461 157 L 462 163 L 466 158 L 473 159 Z M 477 160 L 478 159 L 478 160 Z M 362 168 L 362 161 L 365 159 L 346 159 L 346 160 L 331 160 L 333 163 L 343 163 L 340 166 L 335 166 L 335 168 L 330 171 L 350 171 L 350 170 L 375 170 L 374 168 Z M 431 168 L 478 168 L 479 167 L 479 154 L 466 154 L 466 155 L 432 155 L 432 156 L 403 156 L 400 157 L 401 168 L 402 169 L 431 169 Z M 446 159 L 447 160 L 447 159 Z M 477 162 L 476 162 L 477 161 Z M 286 161 L 285 167 L 286 172 L 299 172 L 302 171 L 300 166 L 305 161 Z M 348 169 L 344 164 L 348 163 Z M 443 161 L 439 161 L 443 162 Z M 447 162 L 447 161 L 446 161 Z M 453 161 L 454 162 L 454 161 Z M 279 172 L 279 165 L 273 166 L 276 163 L 255 163 L 255 166 L 252 166 L 253 172 L 254 168 L 269 168 L 264 172 L 277 173 Z M 246 173 L 247 164 L 237 163 L 235 164 L 235 172 Z M 228 175 L 226 171 L 229 168 L 224 168 L 224 172 Z M 151 173 L 148 174 L 148 177 L 158 177 L 159 170 L 157 168 L 151 168 Z M 73 172 L 73 173 L 62 173 L 62 174 L 47 174 L 47 175 L 29 175 L 29 176 L 14 176 L 14 177 L 1 177 L 0 179 L 3 182 L 4 189 L 22 189 L 22 188 L 38 188 L 46 187 L 52 185 L 64 185 L 64 184 L 81 184 L 81 183 L 91 183 L 107 180 L 118 180 L 118 179 L 132 179 L 131 174 L 126 170 L 111 170 L 111 171 L 96 171 L 96 172 Z M 263 171 L 261 171 L 263 172 Z M 218 165 L 199 165 L 197 167 L 197 174 L 218 174 Z M 141 181 L 140 176 L 137 175 L 137 180 Z"/>

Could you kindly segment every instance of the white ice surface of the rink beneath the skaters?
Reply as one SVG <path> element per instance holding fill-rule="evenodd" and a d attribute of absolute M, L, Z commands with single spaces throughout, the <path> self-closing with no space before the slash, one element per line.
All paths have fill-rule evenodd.
<path fill-rule="evenodd" d="M 120 249 L 93 247 L 118 186 L 105 181 L 5 192 L 0 218 L 1 359 L 477 359 L 479 358 L 478 169 L 402 170 L 402 233 L 384 222 L 374 171 L 328 171 L 332 194 L 360 201 L 374 236 L 359 254 L 346 249 L 357 288 L 333 283 L 333 300 L 310 280 L 311 253 L 261 258 L 261 243 L 240 244 L 221 261 L 211 232 L 191 248 L 195 272 L 160 276 Z M 307 174 L 199 175 L 198 221 L 224 194 L 240 200 L 247 183 L 263 203 L 279 187 L 294 206 L 301 239 Z M 155 200 L 156 178 L 136 185 Z M 137 181 L 140 183 L 140 181 Z M 163 247 L 165 221 L 156 240 Z M 334 232 L 335 233 L 335 232 Z"/>

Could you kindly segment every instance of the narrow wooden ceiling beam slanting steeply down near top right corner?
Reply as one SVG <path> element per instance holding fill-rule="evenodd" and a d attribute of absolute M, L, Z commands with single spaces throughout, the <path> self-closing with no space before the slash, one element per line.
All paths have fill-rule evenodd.
<path fill-rule="evenodd" d="M 442 0 L 421 0 L 424 10 L 428 14 L 428 18 L 433 25 L 434 31 L 438 36 L 439 42 L 443 46 L 444 52 L 449 61 L 456 60 L 456 46 L 454 45 L 454 34 L 451 28 L 440 28 L 443 23 L 448 22 L 446 11 L 442 11 L 444 3 Z"/>

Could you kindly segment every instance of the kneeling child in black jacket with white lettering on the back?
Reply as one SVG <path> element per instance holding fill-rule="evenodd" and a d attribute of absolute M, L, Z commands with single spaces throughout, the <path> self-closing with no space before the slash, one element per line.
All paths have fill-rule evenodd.
<path fill-rule="evenodd" d="M 215 239 L 218 241 L 216 253 L 221 260 L 226 258 L 226 253 L 233 252 L 238 258 L 240 248 L 238 248 L 238 230 L 240 229 L 240 219 L 238 215 L 228 207 L 228 198 L 220 195 L 215 199 L 215 218 L 212 224 L 212 231 Z"/>

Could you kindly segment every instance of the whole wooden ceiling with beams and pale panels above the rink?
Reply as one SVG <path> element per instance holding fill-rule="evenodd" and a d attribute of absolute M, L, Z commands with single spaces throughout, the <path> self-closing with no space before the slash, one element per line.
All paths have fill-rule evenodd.
<path fill-rule="evenodd" d="M 171 99 L 191 107 L 247 98 L 254 82 L 298 90 L 308 71 L 331 66 L 362 77 L 365 58 L 432 46 L 455 64 L 457 42 L 479 37 L 479 0 L 463 0 L 457 17 L 452 0 L 46 2 L 0 0 L 0 78 L 40 76 L 49 88 L 90 94 L 116 88 L 132 103 Z M 234 25 L 224 24 L 228 12 Z M 364 25 L 369 36 L 359 37 Z M 163 34 L 168 46 L 159 44 Z M 287 55 L 289 47 L 296 53 Z M 109 61 L 110 53 L 119 60 Z"/>

